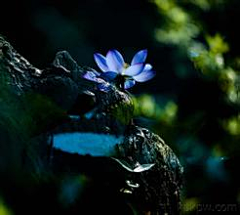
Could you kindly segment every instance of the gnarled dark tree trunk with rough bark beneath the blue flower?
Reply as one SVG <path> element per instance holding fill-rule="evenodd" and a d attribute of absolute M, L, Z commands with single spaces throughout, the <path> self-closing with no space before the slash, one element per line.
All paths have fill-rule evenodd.
<path fill-rule="evenodd" d="M 17 107 L 17 114 L 10 112 L 7 119 L 4 109 L 0 108 L 0 149 L 4 149 L 0 152 L 4 164 L 0 165 L 0 174 L 4 175 L 1 186 L 4 187 L 5 183 L 10 187 L 8 177 L 12 178 L 14 172 L 18 172 L 19 178 L 10 180 L 17 184 L 15 189 L 36 206 L 39 206 L 37 200 L 41 195 L 46 199 L 55 198 L 51 209 L 45 210 L 55 211 L 53 207 L 58 207 L 57 213 L 61 211 L 62 214 L 83 210 L 94 214 L 94 205 L 105 214 L 133 214 L 133 211 L 151 215 L 179 214 L 183 168 L 178 158 L 157 134 L 133 123 L 133 102 L 128 92 L 114 86 L 108 93 L 98 90 L 94 83 L 83 78 L 86 70 L 92 69 L 77 65 L 66 51 L 57 53 L 48 68 L 38 69 L 0 38 L 0 83 Z M 43 96 L 43 102 L 40 102 L 43 109 L 35 105 L 39 96 Z M 0 104 L 4 104 L 5 98 L 0 94 Z M 12 107 L 11 102 L 4 105 Z M 21 141 L 13 138 L 19 132 L 24 133 L 12 120 L 17 122 L 21 118 L 19 109 L 24 109 L 23 114 L 30 114 L 32 120 L 30 126 L 29 122 L 26 123 L 26 135 Z M 86 117 L 86 113 L 91 117 Z M 72 114 L 78 117 L 72 119 Z M 14 124 L 14 129 L 6 126 L 9 123 Z M 37 129 L 29 132 L 34 123 Z M 74 132 L 122 135 L 124 138 L 116 144 L 112 156 L 73 154 L 54 147 L 54 135 Z M 9 169 L 11 174 L 5 174 Z M 26 184 L 22 183 L 25 175 L 37 177 L 39 181 L 31 181 L 32 187 L 27 188 L 28 191 L 24 189 Z M 73 186 L 72 177 L 75 175 L 84 175 L 87 185 L 84 192 L 77 194 L 74 203 L 63 206 L 56 200 L 63 186 L 60 181 L 70 178 Z M 46 184 L 54 188 L 49 190 Z M 21 202 L 19 196 L 13 201 L 6 188 L 1 191 L 16 213 L 30 213 L 24 206 L 16 206 L 18 204 L 14 201 Z M 49 206 L 47 200 L 43 202 L 43 207 Z M 111 206 L 115 207 L 114 212 Z"/>

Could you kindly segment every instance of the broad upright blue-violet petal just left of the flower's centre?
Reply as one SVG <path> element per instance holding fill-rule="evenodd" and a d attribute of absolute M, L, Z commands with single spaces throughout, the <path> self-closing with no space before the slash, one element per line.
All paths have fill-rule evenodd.
<path fill-rule="evenodd" d="M 115 71 L 115 72 L 121 72 L 124 67 L 124 60 L 120 52 L 113 49 L 108 51 L 106 62 L 109 70 Z"/>

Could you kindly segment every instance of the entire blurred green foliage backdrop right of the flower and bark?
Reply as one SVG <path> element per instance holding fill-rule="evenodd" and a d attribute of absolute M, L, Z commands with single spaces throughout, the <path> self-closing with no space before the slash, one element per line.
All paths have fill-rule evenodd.
<path fill-rule="evenodd" d="M 234 41 L 225 38 L 226 32 L 209 31 L 206 28 L 209 23 L 204 19 L 212 11 L 221 14 L 224 7 L 231 8 L 231 1 L 154 0 L 154 3 L 161 23 L 156 30 L 156 41 L 181 53 L 175 62 L 187 59 L 193 66 L 187 71 L 189 76 L 181 77 L 181 82 L 190 83 L 182 86 L 184 94 L 175 92 L 175 103 L 171 99 L 165 101 L 171 104 L 170 113 L 174 113 L 166 111 L 169 124 L 162 123 L 163 110 L 167 108 L 153 96 L 138 97 L 136 113 L 155 119 L 153 128 L 178 152 L 187 172 L 184 214 L 194 214 L 204 201 L 211 202 L 214 198 L 227 201 L 227 197 L 216 197 L 211 190 L 217 189 L 214 183 L 228 187 L 226 181 L 234 181 L 231 178 L 234 169 L 226 168 L 223 163 L 224 159 L 239 157 L 240 152 L 239 53 L 232 52 Z M 176 67 L 175 73 L 180 69 Z M 199 177 L 193 176 L 196 168 L 202 171 Z M 231 193 L 232 201 L 237 201 L 239 192 L 234 190 L 239 185 L 232 186 L 235 187 L 226 190 Z"/>

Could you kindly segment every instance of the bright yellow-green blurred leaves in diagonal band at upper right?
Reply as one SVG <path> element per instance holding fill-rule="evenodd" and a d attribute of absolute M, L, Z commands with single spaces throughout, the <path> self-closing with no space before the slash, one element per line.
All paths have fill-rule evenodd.
<path fill-rule="evenodd" d="M 173 44 L 176 46 L 176 49 L 183 49 L 183 53 L 188 53 L 188 57 L 195 68 L 202 72 L 203 76 L 201 78 L 203 81 L 210 80 L 212 83 L 217 82 L 219 86 L 217 90 L 223 92 L 223 99 L 226 99 L 226 102 L 230 102 L 238 108 L 240 102 L 238 95 L 239 72 L 232 67 L 231 62 L 230 64 L 226 63 L 224 54 L 228 53 L 230 49 L 228 43 L 224 41 L 223 36 L 220 33 L 214 36 L 207 34 L 205 42 L 201 42 L 197 39 L 197 36 L 204 35 L 206 32 L 203 30 L 204 27 L 200 25 L 200 21 L 193 17 L 189 10 L 184 9 L 180 3 L 174 0 L 155 0 L 154 2 L 165 21 L 157 30 L 157 41 Z M 194 4 L 199 9 L 211 10 L 217 3 L 220 2 L 207 0 L 184 1 L 183 5 L 189 6 Z M 224 2 L 221 1 L 221 3 Z M 146 103 L 148 104 L 149 101 L 146 101 Z M 238 115 L 234 118 L 239 119 Z M 232 122 L 233 120 L 230 121 Z M 234 124 L 236 127 L 238 123 L 232 122 L 230 124 Z M 224 128 L 228 128 L 227 130 L 229 130 L 229 126 L 225 125 Z"/>

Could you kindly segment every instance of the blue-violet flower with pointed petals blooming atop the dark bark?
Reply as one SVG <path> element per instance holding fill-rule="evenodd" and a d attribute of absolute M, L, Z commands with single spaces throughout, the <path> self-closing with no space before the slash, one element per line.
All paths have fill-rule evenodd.
<path fill-rule="evenodd" d="M 102 72 L 89 71 L 84 78 L 97 83 L 104 79 L 120 88 L 128 89 L 136 82 L 145 82 L 155 76 L 152 66 L 145 63 L 146 58 L 146 49 L 137 52 L 130 65 L 125 63 L 121 53 L 115 49 L 108 51 L 106 57 L 96 53 L 94 59 Z"/>

